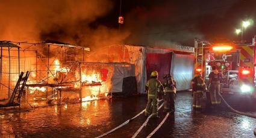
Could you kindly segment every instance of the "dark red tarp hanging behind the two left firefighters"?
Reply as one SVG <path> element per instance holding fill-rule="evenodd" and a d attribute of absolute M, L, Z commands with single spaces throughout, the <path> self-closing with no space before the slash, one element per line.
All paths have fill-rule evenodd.
<path fill-rule="evenodd" d="M 163 81 L 164 74 L 170 73 L 172 63 L 172 52 L 170 53 L 147 53 L 146 54 L 146 73 L 147 79 L 150 78 L 152 71 L 158 71 L 158 79 Z"/>

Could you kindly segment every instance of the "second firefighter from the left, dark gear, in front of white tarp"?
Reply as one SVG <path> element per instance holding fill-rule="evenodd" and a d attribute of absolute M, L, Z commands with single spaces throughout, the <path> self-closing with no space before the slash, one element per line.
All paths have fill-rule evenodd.
<path fill-rule="evenodd" d="M 176 83 L 170 74 L 164 75 L 164 113 L 174 113 Z"/>

